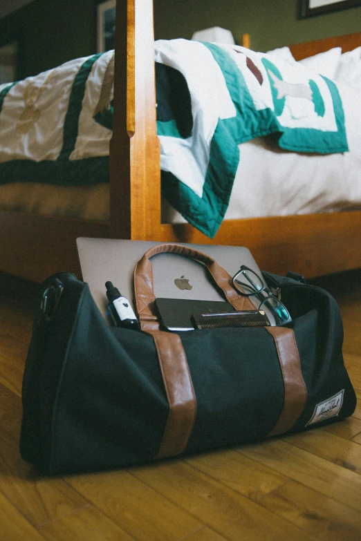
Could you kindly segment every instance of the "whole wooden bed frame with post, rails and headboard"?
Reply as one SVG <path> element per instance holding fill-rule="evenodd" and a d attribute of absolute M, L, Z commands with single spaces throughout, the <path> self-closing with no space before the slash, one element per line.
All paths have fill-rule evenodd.
<path fill-rule="evenodd" d="M 59 270 L 81 276 L 78 236 L 243 245 L 261 268 L 280 274 L 293 269 L 311 277 L 361 267 L 361 211 L 224 220 L 213 240 L 189 224 L 161 222 L 152 0 L 118 0 L 116 17 L 110 222 L 2 211 L 0 271 L 37 282 Z M 301 59 L 360 44 L 361 32 L 290 49 Z"/>

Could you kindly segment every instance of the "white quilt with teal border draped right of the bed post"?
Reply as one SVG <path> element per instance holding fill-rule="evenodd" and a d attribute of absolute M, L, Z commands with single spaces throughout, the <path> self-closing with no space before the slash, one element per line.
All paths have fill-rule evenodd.
<path fill-rule="evenodd" d="M 336 85 L 304 66 L 183 39 L 158 41 L 156 61 L 185 76 L 193 117 L 187 139 L 174 124 L 158 122 L 162 191 L 208 236 L 216 234 L 228 207 L 240 143 L 272 135 L 288 151 L 348 150 Z"/>

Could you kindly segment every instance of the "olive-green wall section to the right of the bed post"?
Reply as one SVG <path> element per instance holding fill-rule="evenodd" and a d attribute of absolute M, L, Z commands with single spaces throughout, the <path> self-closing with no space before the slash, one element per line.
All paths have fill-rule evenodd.
<path fill-rule="evenodd" d="M 222 26 L 251 48 L 272 48 L 361 31 L 361 7 L 299 19 L 299 0 L 155 0 L 156 36 L 169 39 Z"/>

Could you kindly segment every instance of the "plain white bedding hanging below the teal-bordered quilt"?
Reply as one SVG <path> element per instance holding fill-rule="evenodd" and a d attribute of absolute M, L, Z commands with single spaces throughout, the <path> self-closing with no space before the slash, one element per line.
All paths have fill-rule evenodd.
<path fill-rule="evenodd" d="M 259 137 L 239 144 L 240 160 L 225 220 L 361 209 L 361 95 L 337 84 L 349 152 L 294 153 Z M 170 205 L 167 222 L 185 222 Z"/>

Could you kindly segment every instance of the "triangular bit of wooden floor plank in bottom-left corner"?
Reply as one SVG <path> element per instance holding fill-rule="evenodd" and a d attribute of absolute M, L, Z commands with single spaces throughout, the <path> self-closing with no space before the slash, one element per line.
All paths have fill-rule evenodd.
<path fill-rule="evenodd" d="M 44 537 L 24 518 L 0 492 L 1 526 L 3 541 L 44 541 Z"/>

